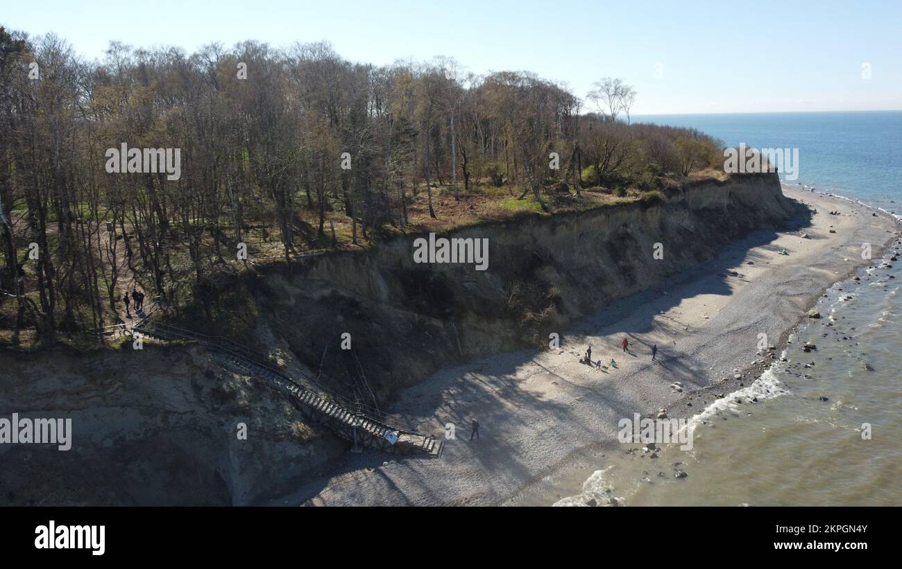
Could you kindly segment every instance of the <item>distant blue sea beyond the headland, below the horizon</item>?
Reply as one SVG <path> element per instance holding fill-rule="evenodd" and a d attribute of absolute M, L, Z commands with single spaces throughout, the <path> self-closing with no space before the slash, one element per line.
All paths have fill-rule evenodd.
<path fill-rule="evenodd" d="M 902 212 L 902 111 L 649 114 L 633 122 L 695 128 L 730 147 L 797 148 L 798 179 L 787 184 Z"/>

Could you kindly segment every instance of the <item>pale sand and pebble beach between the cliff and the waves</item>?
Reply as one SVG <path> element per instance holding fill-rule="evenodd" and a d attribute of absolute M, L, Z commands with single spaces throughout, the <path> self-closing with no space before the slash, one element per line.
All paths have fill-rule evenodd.
<path fill-rule="evenodd" d="M 875 217 L 861 205 L 787 186 L 784 193 L 814 210 L 810 225 L 734 242 L 666 286 L 561 330 L 559 349 L 482 357 L 401 393 L 392 410 L 414 418 L 411 426 L 436 434 L 454 426 L 442 456 L 348 454 L 332 472 L 270 503 L 536 503 L 543 478 L 592 449 L 617 445 L 621 418 L 659 409 L 685 417 L 693 413 L 686 402 L 694 392 L 713 385 L 729 392 L 733 384 L 753 381 L 767 365 L 758 353 L 759 334 L 779 349 L 825 288 L 872 264 L 861 258 L 862 243 L 870 243 L 878 259 L 898 231 L 890 216 Z M 624 337 L 629 354 L 621 350 Z M 614 358 L 619 367 L 581 364 L 590 345 L 594 360 Z M 652 345 L 658 361 L 651 360 Z M 675 382 L 682 392 L 671 387 Z M 474 419 L 480 437 L 471 441 Z"/>

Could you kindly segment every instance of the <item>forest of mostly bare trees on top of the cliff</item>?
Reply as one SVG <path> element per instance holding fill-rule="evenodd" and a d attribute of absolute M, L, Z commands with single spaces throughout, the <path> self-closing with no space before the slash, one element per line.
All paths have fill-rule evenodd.
<path fill-rule="evenodd" d="M 87 61 L 0 28 L 0 343 L 120 322 L 135 286 L 178 311 L 248 259 L 290 266 L 718 175 L 719 140 L 632 122 L 636 97 L 618 78 L 580 98 L 527 71 L 374 66 L 325 42 L 111 42 Z M 179 175 L 111 171 L 126 147 L 161 164 L 175 150 Z"/>

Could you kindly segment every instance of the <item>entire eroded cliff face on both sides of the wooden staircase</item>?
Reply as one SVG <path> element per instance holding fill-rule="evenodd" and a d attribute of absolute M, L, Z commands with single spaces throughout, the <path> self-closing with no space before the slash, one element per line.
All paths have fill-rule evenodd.
<path fill-rule="evenodd" d="M 332 386 L 347 391 L 347 378 L 363 369 L 387 402 L 440 366 L 545 346 L 550 332 L 691 270 L 750 231 L 784 227 L 796 212 L 776 175 L 733 176 L 658 203 L 444 236 L 488 239 L 485 271 L 415 263 L 421 235 L 311 257 L 290 271 L 267 266 L 230 286 L 238 300 L 226 310 L 245 322 L 248 344 L 290 375 L 305 365 L 317 375 L 322 364 L 343 383 Z M 359 366 L 340 349 L 344 332 Z M 365 399 L 364 384 L 357 388 Z M 69 451 L 0 445 L 0 504 L 257 503 L 346 449 L 262 380 L 219 366 L 198 346 L 0 353 L 0 393 L 0 417 L 71 418 L 74 431 Z M 246 440 L 237 437 L 240 422 Z"/>

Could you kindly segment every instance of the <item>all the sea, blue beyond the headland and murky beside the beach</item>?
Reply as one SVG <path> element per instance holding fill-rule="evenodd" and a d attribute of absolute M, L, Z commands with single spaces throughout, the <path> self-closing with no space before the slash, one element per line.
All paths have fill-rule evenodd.
<path fill-rule="evenodd" d="M 784 184 L 902 213 L 902 111 L 647 115 L 633 122 L 692 127 L 731 147 L 798 149 L 798 177 Z M 691 449 L 665 445 L 655 461 L 650 449 L 599 456 L 594 470 L 548 481 L 546 500 L 902 505 L 902 262 L 889 264 L 862 269 L 861 285 L 833 285 L 817 305 L 825 318 L 796 331 L 784 354 L 789 361 L 700 410 Z M 816 349 L 803 351 L 805 342 Z M 686 476 L 677 478 L 677 470 Z"/>

